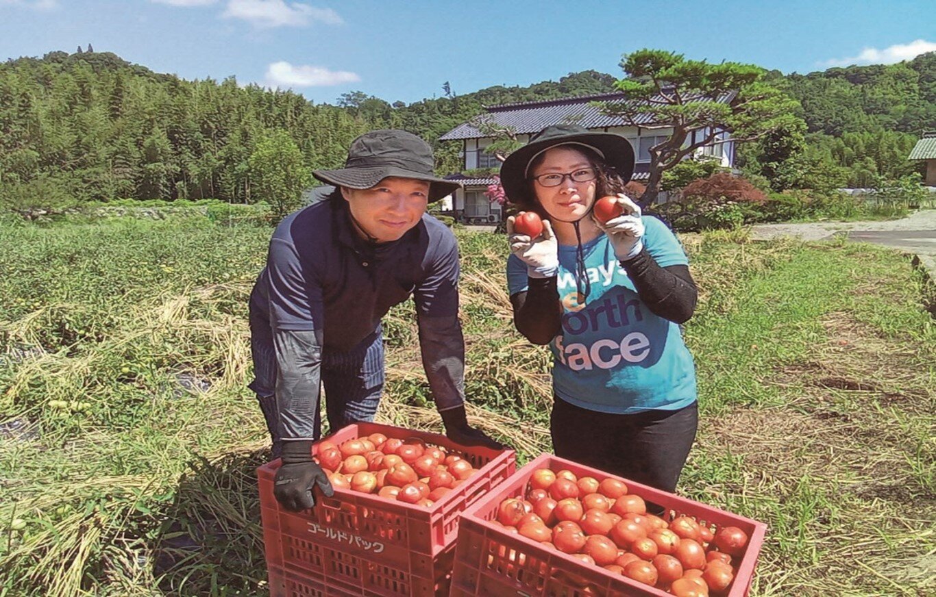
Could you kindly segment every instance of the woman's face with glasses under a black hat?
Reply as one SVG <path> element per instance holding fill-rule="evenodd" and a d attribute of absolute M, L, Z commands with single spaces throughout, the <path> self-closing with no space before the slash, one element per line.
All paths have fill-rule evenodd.
<path fill-rule="evenodd" d="M 565 176 L 558 186 L 543 186 L 535 177 L 572 174 L 585 168 L 593 169 L 593 166 L 584 153 L 570 147 L 554 147 L 543 153 L 543 160 L 530 172 L 536 199 L 552 218 L 577 222 L 588 215 L 594 202 L 596 181 L 575 182 L 571 176 Z"/>

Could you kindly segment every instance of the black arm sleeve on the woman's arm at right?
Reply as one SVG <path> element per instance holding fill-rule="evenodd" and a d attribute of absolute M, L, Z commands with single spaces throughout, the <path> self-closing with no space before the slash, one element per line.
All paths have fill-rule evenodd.
<path fill-rule="evenodd" d="M 661 268 L 646 247 L 621 265 L 652 313 L 678 324 L 693 316 L 698 290 L 687 266 Z"/>

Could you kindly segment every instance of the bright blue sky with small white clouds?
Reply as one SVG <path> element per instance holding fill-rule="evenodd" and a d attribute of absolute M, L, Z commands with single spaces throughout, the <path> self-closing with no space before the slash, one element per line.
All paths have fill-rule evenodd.
<path fill-rule="evenodd" d="M 622 75 L 640 48 L 784 73 L 936 50 L 936 4 L 501 0 L 0 0 L 0 60 L 93 44 L 183 79 L 363 91 L 406 103 L 490 85 Z"/>

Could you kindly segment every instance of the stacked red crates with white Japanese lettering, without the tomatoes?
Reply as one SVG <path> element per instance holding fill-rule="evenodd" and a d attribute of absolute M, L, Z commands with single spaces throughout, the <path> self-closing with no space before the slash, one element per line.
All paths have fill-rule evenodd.
<path fill-rule="evenodd" d="M 516 469 L 513 450 L 454 444 L 444 435 L 376 423 L 356 423 L 324 440 L 383 433 L 417 437 L 464 453 L 476 472 L 431 507 L 391 502 L 336 488 L 314 508 L 290 512 L 273 496 L 280 460 L 256 470 L 271 595 L 445 594 L 461 512 Z"/>

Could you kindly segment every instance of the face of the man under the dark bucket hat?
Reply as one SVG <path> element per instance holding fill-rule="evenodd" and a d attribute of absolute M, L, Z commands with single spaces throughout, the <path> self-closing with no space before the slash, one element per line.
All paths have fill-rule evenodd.
<path fill-rule="evenodd" d="M 389 177 L 370 189 L 342 187 L 358 226 L 378 242 L 400 239 L 419 223 L 429 203 L 429 182 Z"/>

